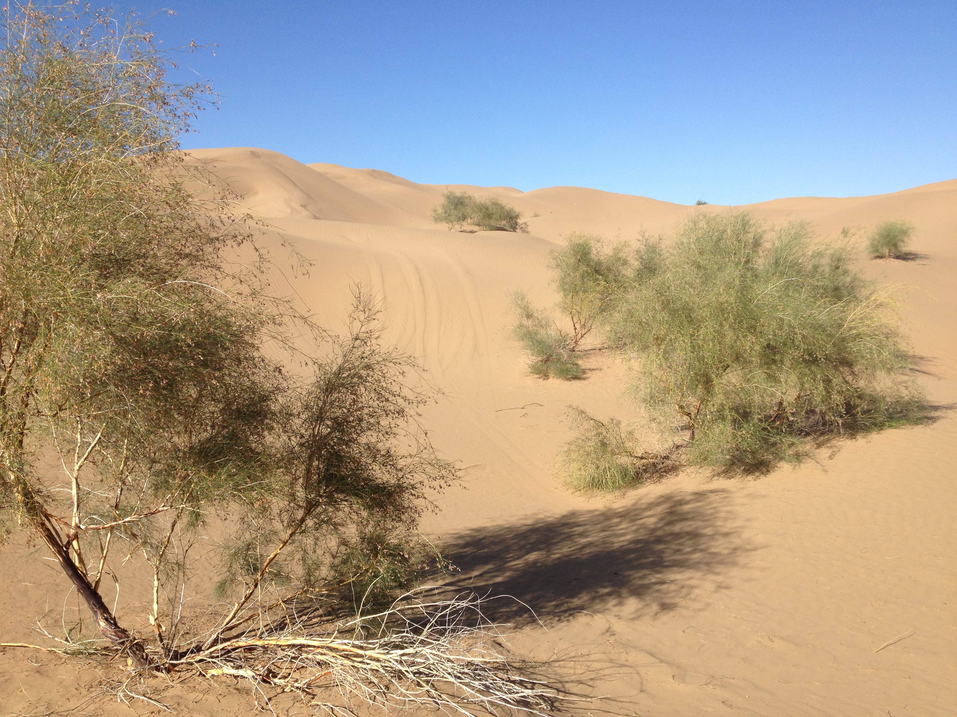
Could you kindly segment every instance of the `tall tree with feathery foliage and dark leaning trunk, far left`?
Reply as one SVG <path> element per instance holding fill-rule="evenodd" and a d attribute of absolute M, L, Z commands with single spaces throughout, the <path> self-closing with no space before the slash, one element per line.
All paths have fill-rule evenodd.
<path fill-rule="evenodd" d="M 137 521 L 182 517 L 242 480 L 275 390 L 257 349 L 271 327 L 244 277 L 248 302 L 211 288 L 248 230 L 178 178 L 175 135 L 205 88 L 170 85 L 140 28 L 117 36 L 109 17 L 85 19 L 5 17 L 0 491 L 104 635 L 145 663 L 99 596 L 105 556 Z M 66 506 L 36 467 L 50 449 Z"/>

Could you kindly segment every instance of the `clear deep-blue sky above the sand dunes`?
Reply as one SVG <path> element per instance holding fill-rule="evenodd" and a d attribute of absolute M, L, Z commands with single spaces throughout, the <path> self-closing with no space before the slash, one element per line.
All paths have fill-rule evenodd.
<path fill-rule="evenodd" d="M 681 204 L 957 178 L 957 2 L 146 0 L 259 146 L 430 184 Z"/>

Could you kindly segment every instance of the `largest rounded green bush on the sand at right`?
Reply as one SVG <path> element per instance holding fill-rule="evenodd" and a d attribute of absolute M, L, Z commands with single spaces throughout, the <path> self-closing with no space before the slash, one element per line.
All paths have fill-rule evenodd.
<path fill-rule="evenodd" d="M 915 416 L 887 293 L 846 247 L 810 239 L 801 223 L 692 217 L 610 321 L 636 359 L 638 395 L 685 423 L 693 463 L 766 467 L 809 437 Z"/>

